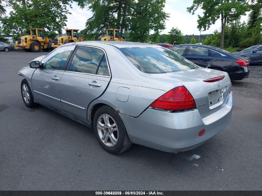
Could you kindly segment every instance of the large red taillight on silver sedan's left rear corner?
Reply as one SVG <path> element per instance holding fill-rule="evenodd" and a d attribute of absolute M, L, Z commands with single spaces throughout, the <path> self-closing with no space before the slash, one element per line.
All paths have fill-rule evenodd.
<path fill-rule="evenodd" d="M 178 86 L 156 99 L 149 107 L 164 110 L 186 110 L 196 107 L 193 96 L 184 86 Z"/>

